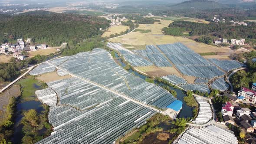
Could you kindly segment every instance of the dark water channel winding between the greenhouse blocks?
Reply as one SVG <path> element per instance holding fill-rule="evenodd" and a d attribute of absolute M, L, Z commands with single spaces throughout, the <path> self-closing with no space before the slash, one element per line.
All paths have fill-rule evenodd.
<path fill-rule="evenodd" d="M 120 56 L 118 56 L 118 54 L 117 54 L 116 52 L 115 52 L 115 57 L 116 57 L 116 58 L 120 58 Z M 119 63 L 121 64 L 122 67 L 125 67 L 125 63 L 123 62 L 122 59 L 116 59 L 116 60 L 117 60 L 117 62 L 119 62 Z M 133 69 L 128 69 L 128 72 L 134 73 L 135 76 L 138 76 L 138 77 L 140 77 L 141 79 L 146 79 L 146 78 L 147 78 L 147 76 L 142 75 L 142 74 L 140 74 L 140 73 L 134 71 Z M 180 101 L 182 101 L 182 103 L 183 103 L 183 104 L 182 104 L 182 109 L 181 109 L 180 113 L 177 115 L 177 118 L 193 117 L 192 111 L 193 111 L 194 108 L 188 106 L 188 105 L 186 104 L 186 102 L 183 100 L 183 98 L 186 96 L 185 93 L 184 93 L 184 91 L 182 91 L 181 89 L 177 89 L 177 88 L 171 87 L 171 86 L 169 86 L 169 85 L 166 85 L 166 84 L 164 84 L 163 82 L 154 81 L 154 83 L 155 83 L 155 84 L 158 84 L 158 85 L 160 85 L 160 86 L 164 86 L 164 85 L 165 85 L 165 86 L 168 86 L 171 90 L 174 90 L 174 91 L 177 92 L 177 99 L 180 100 Z"/>

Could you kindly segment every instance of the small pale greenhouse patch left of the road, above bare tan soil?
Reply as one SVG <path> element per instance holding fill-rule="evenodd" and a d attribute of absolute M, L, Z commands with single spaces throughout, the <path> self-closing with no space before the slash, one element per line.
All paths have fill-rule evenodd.
<path fill-rule="evenodd" d="M 50 65 L 47 62 L 44 62 L 40 65 L 37 65 L 35 69 L 29 72 L 30 75 L 41 75 L 43 73 L 55 71 L 55 66 Z"/>

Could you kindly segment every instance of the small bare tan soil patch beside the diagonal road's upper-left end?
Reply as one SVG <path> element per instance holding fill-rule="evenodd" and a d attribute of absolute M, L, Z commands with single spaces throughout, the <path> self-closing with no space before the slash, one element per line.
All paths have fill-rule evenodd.
<path fill-rule="evenodd" d="M 52 82 L 60 79 L 68 79 L 71 77 L 72 77 L 71 75 L 59 76 L 56 72 L 49 72 L 49 73 L 37 76 L 36 79 L 42 82 Z"/>

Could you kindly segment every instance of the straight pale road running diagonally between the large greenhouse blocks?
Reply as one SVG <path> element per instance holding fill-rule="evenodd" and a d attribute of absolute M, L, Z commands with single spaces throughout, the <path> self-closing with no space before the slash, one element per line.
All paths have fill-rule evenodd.
<path fill-rule="evenodd" d="M 48 62 L 48 63 L 49 63 L 49 62 Z M 50 64 L 50 65 L 53 65 L 52 63 L 49 63 L 49 64 Z M 150 108 L 150 109 L 152 109 L 152 110 L 154 110 L 154 111 L 160 112 L 160 113 L 162 113 L 162 114 L 164 114 L 164 115 L 168 115 L 165 111 L 160 111 L 160 110 L 158 110 L 158 109 L 156 109 L 156 108 L 153 108 L 153 107 L 151 107 L 151 106 L 149 106 L 149 105 L 145 105 L 145 104 L 143 104 L 143 103 L 141 103 L 141 102 L 139 102 L 139 101 L 135 101 L 134 99 L 129 98 L 129 97 L 126 96 L 126 95 L 121 95 L 120 93 L 118 93 L 118 92 L 116 92 L 116 91 L 114 91 L 114 90 L 112 90 L 112 89 L 110 89 L 110 88 L 107 88 L 107 87 L 105 87 L 104 85 L 99 85 L 98 83 L 89 81 L 89 80 L 87 80 L 87 79 L 83 79 L 83 78 L 81 78 L 81 77 L 79 77 L 79 76 L 77 76 L 77 75 L 73 75 L 73 74 L 70 73 L 69 71 L 66 71 L 65 69 L 62 69 L 62 68 L 58 67 L 57 65 L 53 65 L 53 66 L 55 66 L 57 69 L 60 69 L 60 70 L 62 70 L 62 71 L 64 71 L 64 72 L 69 73 L 69 75 L 72 75 L 73 77 L 76 77 L 76 78 L 78 78 L 78 79 L 81 79 L 81 80 L 83 80 L 83 81 L 85 81 L 85 82 L 88 82 L 88 83 L 90 83 L 90 84 L 92 84 L 92 85 L 95 85 L 95 86 L 97 86 L 97 87 L 103 88 L 103 89 L 105 89 L 105 90 L 107 90 L 107 91 L 113 92 L 114 94 L 119 95 L 119 96 L 121 96 L 122 98 L 125 98 L 125 99 L 127 99 L 127 100 L 133 101 L 133 102 L 135 102 L 135 103 L 137 103 L 137 104 L 139 104 L 139 105 L 143 105 L 143 106 L 145 106 L 145 107 L 147 107 L 147 108 Z"/>

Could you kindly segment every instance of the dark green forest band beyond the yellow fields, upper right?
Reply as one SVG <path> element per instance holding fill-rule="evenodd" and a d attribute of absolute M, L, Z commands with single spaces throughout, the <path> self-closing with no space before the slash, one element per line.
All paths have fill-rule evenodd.
<path fill-rule="evenodd" d="M 251 22 L 248 26 L 230 25 L 230 23 L 194 23 L 189 21 L 175 21 L 163 29 L 164 33 L 173 36 L 183 36 L 189 32 L 189 36 L 216 36 L 226 39 L 244 38 L 247 42 L 256 39 L 256 23 Z M 205 41 L 208 42 L 206 37 Z"/>

